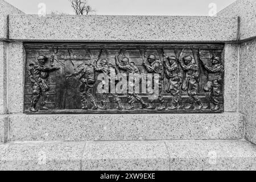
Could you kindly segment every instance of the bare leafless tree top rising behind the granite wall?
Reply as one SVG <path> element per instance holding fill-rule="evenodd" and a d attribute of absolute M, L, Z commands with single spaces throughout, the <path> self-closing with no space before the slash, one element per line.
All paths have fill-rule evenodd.
<path fill-rule="evenodd" d="M 69 0 L 71 2 L 71 7 L 73 7 L 77 15 L 88 15 L 91 12 L 96 12 L 92 9 L 86 0 Z"/>

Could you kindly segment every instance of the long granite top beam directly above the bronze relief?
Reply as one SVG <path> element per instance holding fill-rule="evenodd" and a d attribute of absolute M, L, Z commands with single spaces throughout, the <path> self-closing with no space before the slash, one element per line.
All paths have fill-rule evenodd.
<path fill-rule="evenodd" d="M 10 39 L 77 41 L 237 40 L 236 16 L 10 15 Z"/>

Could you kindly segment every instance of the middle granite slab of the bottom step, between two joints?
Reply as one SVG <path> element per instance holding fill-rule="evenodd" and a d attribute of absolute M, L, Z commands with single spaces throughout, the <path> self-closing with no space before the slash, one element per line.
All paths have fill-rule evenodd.
<path fill-rule="evenodd" d="M 166 171 L 169 156 L 164 142 L 87 142 L 82 158 L 86 171 Z"/>

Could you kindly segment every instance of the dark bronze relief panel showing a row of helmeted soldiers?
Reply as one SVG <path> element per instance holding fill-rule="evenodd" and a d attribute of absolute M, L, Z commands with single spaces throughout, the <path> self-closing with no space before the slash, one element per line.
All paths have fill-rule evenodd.
<path fill-rule="evenodd" d="M 24 46 L 27 114 L 224 111 L 223 44 Z"/>

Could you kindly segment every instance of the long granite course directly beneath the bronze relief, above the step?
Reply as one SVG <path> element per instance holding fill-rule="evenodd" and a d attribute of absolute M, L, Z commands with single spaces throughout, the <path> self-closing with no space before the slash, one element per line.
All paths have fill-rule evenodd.
<path fill-rule="evenodd" d="M 240 139 L 243 118 L 223 114 L 13 114 L 10 140 Z"/>

